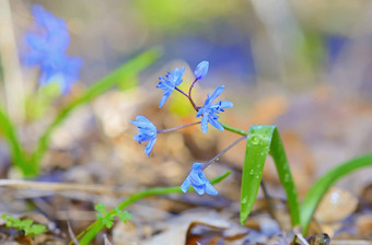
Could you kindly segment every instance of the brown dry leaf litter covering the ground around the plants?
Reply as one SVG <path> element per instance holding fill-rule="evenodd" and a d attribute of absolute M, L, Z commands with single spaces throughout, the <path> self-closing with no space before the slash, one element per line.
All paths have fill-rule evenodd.
<path fill-rule="evenodd" d="M 34 213 L 34 222 L 47 224 L 48 228 L 47 233 L 30 241 L 0 223 L 1 244 L 66 244 L 71 241 L 68 226 L 73 234 L 79 234 L 94 221 L 95 203 L 104 202 L 109 208 L 138 189 L 181 185 L 184 170 L 191 161 L 207 161 L 224 148 L 224 142 L 232 140 L 231 133 L 213 131 L 200 139 L 199 129 L 187 129 L 159 137 L 152 158 L 147 159 L 142 148 L 131 140 L 135 131 L 128 120 L 133 115 L 146 113 L 160 126 L 172 121 L 177 125 L 179 120 L 187 124 L 188 118 L 179 119 L 166 110 L 156 110 L 152 95 L 149 95 L 148 101 L 141 101 L 139 96 L 133 96 L 138 91 L 109 92 L 93 103 L 93 109 L 82 108 L 59 129 L 44 160 L 44 174 L 39 182 L 46 185 L 67 183 L 71 184 L 72 189 L 68 186 L 54 189 L 53 184 L 44 190 L 32 185 L 28 188 L 0 187 L 2 212 L 15 213 L 21 218 Z M 301 95 L 301 98 L 298 95 L 263 96 L 257 106 L 267 108 L 265 118 L 254 113 L 260 110 L 255 107 L 243 116 L 236 113 L 223 118 L 242 128 L 263 120 L 261 124 L 277 124 L 283 132 L 286 150 L 301 195 L 306 192 L 311 182 L 340 159 L 372 150 L 371 144 L 365 143 L 370 142 L 368 137 L 372 135 L 372 129 L 365 122 L 372 122 L 371 109 L 356 103 L 356 100 L 345 101 L 332 93 L 322 95 L 322 103 L 317 96 L 316 91 Z M 131 106 L 128 106 L 128 102 Z M 101 114 L 103 108 L 109 110 Z M 303 117 L 302 112 L 309 112 L 307 117 Z M 85 116 L 82 117 L 81 113 Z M 247 115 L 248 120 L 244 121 Z M 316 120 L 319 122 L 314 124 Z M 336 129 L 335 120 L 345 122 Z M 83 127 L 77 128 L 75 125 Z M 360 131 L 365 133 L 356 133 L 354 127 L 360 127 Z M 71 128 L 74 130 L 71 131 Z M 68 137 L 57 137 L 63 133 Z M 281 245 L 305 242 L 327 245 L 329 241 L 332 244 L 371 244 L 368 242 L 372 240 L 370 170 L 351 175 L 340 182 L 336 190 L 332 189 L 311 223 L 312 236 L 304 237 L 304 242 L 301 238 L 294 242 L 300 233 L 290 229 L 284 195 L 278 187 L 270 164 L 265 170 L 264 178 L 272 196 L 275 215 L 269 215 L 266 200 L 259 194 L 260 199 L 256 201 L 245 226 L 239 225 L 240 155 L 243 158 L 244 149 L 237 147 L 223 155 L 216 165 L 218 167 L 209 173 L 217 176 L 228 168 L 233 170 L 232 178 L 217 185 L 220 196 L 216 199 L 199 198 L 191 194 L 141 200 L 128 209 L 133 221 L 127 224 L 116 221 L 113 229 L 103 231 L 94 244 L 151 245 L 164 244 L 165 241 L 166 244 L 187 245 Z M 7 159 L 7 155 L 1 154 L 1 158 Z M 8 172 L 8 177 L 11 176 L 12 173 Z M 90 191 L 94 185 L 100 188 Z M 335 205 L 340 209 L 336 209 Z M 335 211 L 335 214 L 330 211 Z"/>

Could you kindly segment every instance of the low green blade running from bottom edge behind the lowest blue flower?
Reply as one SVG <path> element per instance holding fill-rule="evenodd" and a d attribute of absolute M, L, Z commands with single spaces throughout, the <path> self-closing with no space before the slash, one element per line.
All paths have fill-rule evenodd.
<path fill-rule="evenodd" d="M 214 184 L 223 180 L 225 177 L 228 177 L 230 175 L 230 173 L 231 173 L 231 171 L 228 171 L 226 173 L 220 175 L 219 177 L 211 179 L 210 183 L 212 185 L 214 185 Z M 190 187 L 190 189 L 193 189 L 193 187 Z M 118 208 L 119 210 L 124 210 L 129 205 L 138 201 L 139 199 L 146 198 L 146 197 L 167 195 L 167 194 L 177 194 L 177 192 L 182 192 L 179 186 L 146 189 L 141 192 L 137 192 L 137 194 L 129 196 L 127 199 L 121 201 L 116 208 Z M 114 208 L 113 211 L 109 212 L 109 214 L 116 212 L 115 211 L 116 208 Z M 81 237 L 81 240 L 79 241 L 80 245 L 90 244 L 91 241 L 98 234 L 98 232 L 103 228 L 104 228 L 104 224 L 101 221 L 95 221 L 93 224 L 91 224 L 85 231 L 83 231 L 82 233 L 80 233 L 77 236 L 77 238 Z M 70 243 L 70 244 L 72 244 L 72 243 Z"/>

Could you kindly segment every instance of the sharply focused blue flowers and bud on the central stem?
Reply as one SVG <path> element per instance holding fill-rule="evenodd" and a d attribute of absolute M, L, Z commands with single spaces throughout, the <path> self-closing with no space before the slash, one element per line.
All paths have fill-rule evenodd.
<path fill-rule="evenodd" d="M 185 95 L 190 101 L 191 105 L 197 112 L 196 117 L 202 117 L 201 118 L 201 131 L 204 133 L 208 131 L 208 124 L 210 124 L 211 126 L 213 126 L 214 128 L 221 131 L 224 130 L 223 126 L 218 121 L 219 119 L 218 114 L 220 114 L 221 112 L 224 112 L 225 108 L 233 107 L 233 103 L 229 101 L 219 101 L 214 103 L 216 98 L 220 96 L 221 93 L 223 92 L 224 90 L 223 85 L 217 88 L 211 95 L 209 94 L 207 95 L 207 100 L 205 101 L 204 106 L 196 106 L 191 97 L 191 90 L 198 80 L 201 80 L 207 75 L 208 68 L 209 68 L 208 61 L 201 61 L 197 66 L 197 68 L 194 71 L 195 81 L 190 85 L 188 94 L 186 94 L 185 92 L 178 89 L 179 84 L 183 82 L 182 77 L 185 71 L 184 67 L 182 67 L 181 69 L 175 68 L 172 73 L 167 72 L 165 78 L 163 77 L 159 78 L 159 83 L 156 85 L 156 88 L 164 90 L 164 94 L 161 98 L 159 107 L 161 108 L 165 104 L 166 100 L 171 96 L 174 90 L 178 91 L 179 93 Z M 144 116 L 137 116 L 136 121 L 131 120 L 130 122 L 139 128 L 139 131 L 133 137 L 133 139 L 138 141 L 139 143 L 143 141 L 149 141 L 149 143 L 144 148 L 144 152 L 148 156 L 150 156 L 150 153 L 156 141 L 156 136 L 159 132 L 162 132 L 162 130 L 156 130 L 156 127 Z M 196 192 L 199 195 L 202 195 L 205 192 L 209 195 L 217 195 L 218 191 L 209 183 L 209 180 L 207 179 L 202 171 L 204 171 L 204 167 L 201 163 L 194 163 L 193 170 L 186 177 L 181 189 L 184 192 L 186 192 L 189 189 L 189 187 L 193 186 Z"/>

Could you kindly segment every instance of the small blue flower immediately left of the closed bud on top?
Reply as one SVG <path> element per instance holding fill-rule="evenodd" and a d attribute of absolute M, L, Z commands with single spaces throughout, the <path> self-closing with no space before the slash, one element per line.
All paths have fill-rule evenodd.
<path fill-rule="evenodd" d="M 165 78 L 160 77 L 160 82 L 158 83 L 156 88 L 164 90 L 164 94 L 162 100 L 160 101 L 159 108 L 161 108 L 166 100 L 172 94 L 173 90 L 182 83 L 182 77 L 185 72 L 185 68 L 182 67 L 181 70 L 178 68 L 173 70 L 173 73 L 167 72 Z"/>

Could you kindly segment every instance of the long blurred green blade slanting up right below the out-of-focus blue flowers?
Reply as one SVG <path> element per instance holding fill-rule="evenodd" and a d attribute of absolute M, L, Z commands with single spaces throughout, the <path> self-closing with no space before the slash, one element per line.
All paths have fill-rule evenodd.
<path fill-rule="evenodd" d="M 147 50 L 139 56 L 132 58 L 127 61 L 125 65 L 104 77 L 103 79 L 95 82 L 91 85 L 84 94 L 80 97 L 71 102 L 67 105 L 55 118 L 55 120 L 48 126 L 43 136 L 40 137 L 37 148 L 32 155 L 32 164 L 36 165 L 35 167 L 38 170 L 39 161 L 42 160 L 45 151 L 48 148 L 49 139 L 54 130 L 68 117 L 68 115 L 77 107 L 82 104 L 85 104 L 100 94 L 106 92 L 112 89 L 114 85 L 118 83 L 123 83 L 124 81 L 133 78 L 138 72 L 150 66 L 161 56 L 161 51 L 159 49 L 150 49 Z"/>

